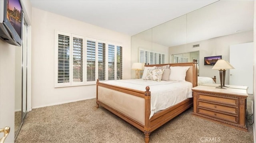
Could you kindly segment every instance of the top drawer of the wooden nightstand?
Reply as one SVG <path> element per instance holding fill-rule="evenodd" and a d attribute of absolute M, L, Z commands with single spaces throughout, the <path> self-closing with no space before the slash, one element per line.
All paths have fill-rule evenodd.
<path fill-rule="evenodd" d="M 198 100 L 205 100 L 209 102 L 215 102 L 215 103 L 226 104 L 231 106 L 238 106 L 238 98 L 218 96 L 216 94 L 198 93 Z"/>

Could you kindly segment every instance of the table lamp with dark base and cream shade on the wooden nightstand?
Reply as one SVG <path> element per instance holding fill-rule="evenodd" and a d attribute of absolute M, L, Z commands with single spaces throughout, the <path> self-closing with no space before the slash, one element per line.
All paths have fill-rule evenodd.
<path fill-rule="evenodd" d="M 225 86 L 225 76 L 226 76 L 226 69 L 235 69 L 228 61 L 219 59 L 215 65 L 212 67 L 214 70 L 219 70 L 220 71 L 220 87 L 216 88 L 222 88 L 226 89 Z"/>

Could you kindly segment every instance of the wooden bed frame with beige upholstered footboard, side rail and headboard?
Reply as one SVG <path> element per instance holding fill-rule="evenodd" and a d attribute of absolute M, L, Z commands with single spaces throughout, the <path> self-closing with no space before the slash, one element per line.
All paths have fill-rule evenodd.
<path fill-rule="evenodd" d="M 186 72 L 186 81 L 192 82 L 193 87 L 197 86 L 197 64 L 196 62 L 193 63 L 178 63 L 178 64 L 160 64 L 160 65 L 145 65 L 146 67 L 153 67 L 153 66 L 164 66 L 164 65 L 170 65 L 170 66 L 183 66 L 183 67 L 190 67 L 188 71 Z M 158 127 L 162 126 L 164 123 L 170 121 L 172 118 L 178 116 L 180 113 L 184 112 L 188 108 L 192 107 L 193 105 L 193 99 L 188 98 L 174 106 L 171 106 L 165 110 L 161 110 L 157 113 L 155 113 L 150 118 L 150 88 L 148 86 L 145 87 L 146 91 L 140 91 L 140 90 L 134 90 L 130 88 L 124 88 L 119 86 L 113 86 L 110 84 L 104 84 L 97 80 L 96 84 L 96 104 L 97 108 L 99 106 L 102 106 L 115 114 L 116 116 L 124 119 L 134 127 L 140 129 L 144 132 L 144 139 L 145 142 L 149 142 L 149 136 L 152 131 L 157 129 Z M 108 95 L 106 95 L 106 92 L 108 92 Z M 113 96 L 113 93 L 116 93 Z M 127 96 L 128 95 L 128 96 Z M 111 97 L 108 97 L 111 96 Z M 117 109 L 116 107 L 113 107 L 112 104 L 108 104 L 105 102 L 104 99 L 106 98 L 112 98 L 110 99 L 110 102 L 114 102 L 114 104 L 119 104 L 119 107 L 127 108 L 128 106 L 123 105 L 124 101 L 127 97 L 131 96 L 132 98 L 139 98 L 140 104 L 139 106 L 142 107 L 142 112 L 139 114 L 143 116 L 144 114 L 144 123 L 141 123 L 140 121 L 137 121 L 131 116 L 128 116 L 127 114 L 124 114 L 121 110 Z M 118 97 L 118 98 L 116 98 Z M 108 99 L 107 99 L 108 100 Z M 137 101 L 137 100 L 136 100 Z M 132 103 L 132 102 L 129 102 Z M 138 102 L 136 102 L 137 104 Z M 128 107 L 129 108 L 129 107 Z M 129 110 L 127 108 L 127 110 Z M 137 112 L 136 108 L 136 112 Z M 150 119 L 149 119 L 150 118 Z"/>

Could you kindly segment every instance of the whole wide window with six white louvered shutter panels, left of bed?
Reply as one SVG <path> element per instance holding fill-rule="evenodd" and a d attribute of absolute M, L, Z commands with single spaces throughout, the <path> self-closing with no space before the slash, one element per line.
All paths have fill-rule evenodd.
<path fill-rule="evenodd" d="M 56 87 L 122 79 L 120 45 L 62 31 L 56 41 Z"/>

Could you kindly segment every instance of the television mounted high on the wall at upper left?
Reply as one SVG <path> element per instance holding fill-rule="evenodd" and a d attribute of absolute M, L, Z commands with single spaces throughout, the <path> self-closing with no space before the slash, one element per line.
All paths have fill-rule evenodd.
<path fill-rule="evenodd" d="M 22 45 L 22 20 L 20 0 L 0 0 L 0 37 L 3 41 Z"/>

